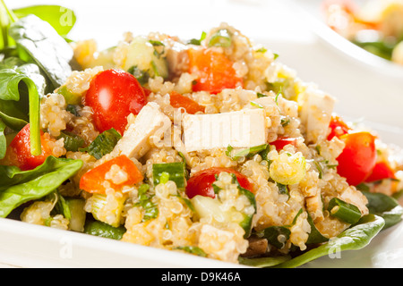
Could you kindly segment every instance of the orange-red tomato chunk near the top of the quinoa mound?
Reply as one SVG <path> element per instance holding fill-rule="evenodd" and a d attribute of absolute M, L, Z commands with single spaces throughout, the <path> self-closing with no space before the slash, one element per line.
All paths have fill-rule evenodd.
<path fill-rule="evenodd" d="M 193 91 L 206 90 L 217 94 L 224 88 L 242 87 L 244 80 L 236 75 L 226 55 L 213 49 L 190 48 L 189 73 L 197 74 Z"/>

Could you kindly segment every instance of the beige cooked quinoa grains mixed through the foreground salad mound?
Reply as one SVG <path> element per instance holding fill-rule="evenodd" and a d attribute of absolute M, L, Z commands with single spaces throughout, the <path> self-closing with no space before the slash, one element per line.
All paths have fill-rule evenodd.
<path fill-rule="evenodd" d="M 229 40 L 229 45 L 211 46 L 211 40 L 223 31 L 227 38 L 222 40 Z M 145 43 L 153 55 L 165 61 L 165 70 L 157 72 L 155 66 L 150 68 L 150 60 L 146 62 L 144 55 L 133 60 L 135 55 L 131 48 L 136 41 Z M 223 88 L 219 92 L 193 90 L 198 84 L 199 74 L 189 68 L 191 62 L 186 51 L 190 48 L 205 48 L 224 55 L 232 63 L 235 76 L 242 79 L 242 85 Z M 369 213 L 364 194 L 338 173 L 337 158 L 345 147 L 344 141 L 338 137 L 327 139 L 333 98 L 313 84 L 304 83 L 296 76 L 296 71 L 277 60 L 277 55 L 255 45 L 227 23 L 210 29 L 197 45 L 165 34 L 134 36 L 126 33 L 116 47 L 105 51 L 98 51 L 93 40 L 76 42 L 73 50 L 82 71 L 73 71 L 55 93 L 42 98 L 41 128 L 55 140 L 52 141 L 54 156 L 65 156 L 83 163 L 80 171 L 59 188 L 60 194 L 85 200 L 83 208 L 95 220 L 116 228 L 124 227 L 121 240 L 175 251 L 187 252 L 186 249 L 197 248 L 206 257 L 238 263 L 238 258 L 245 256 L 250 248 L 250 242 L 266 240 L 262 231 L 272 226 L 288 226 L 289 236 L 279 235 L 281 247 L 266 241 L 266 247 L 258 256 L 285 255 L 295 248 L 305 250 L 313 225 L 327 239 L 345 231 L 351 223 L 330 213 L 328 206 L 332 198 L 356 206 L 361 216 Z M 141 72 L 148 71 L 148 78 L 141 78 L 144 80 L 142 87 L 148 92 L 147 106 L 161 118 L 168 119 L 170 126 L 167 130 L 171 132 L 152 133 L 141 141 L 144 146 L 134 151 L 130 143 L 141 137 L 135 133 L 134 126 L 144 115 L 129 114 L 124 133 L 115 147 L 97 158 L 90 155 L 88 147 L 102 132 L 97 130 L 95 113 L 85 105 L 84 97 L 91 80 L 102 71 L 121 69 L 134 74 L 133 61 L 137 61 L 136 67 Z M 78 101 L 68 104 L 64 100 L 66 93 Z M 183 122 L 189 114 L 186 109 L 171 104 L 174 93 L 202 107 L 203 111 L 190 115 L 194 121 L 219 118 L 206 117 L 215 114 L 262 116 L 261 122 L 253 123 L 249 140 L 258 140 L 259 131 L 254 130 L 262 130 L 259 134 L 264 138 L 263 144 L 267 144 L 266 152 L 261 149 L 252 155 L 242 153 L 245 148 L 251 148 L 252 153 L 255 146 L 241 146 L 241 143 L 234 147 L 218 144 L 217 147 L 190 148 L 189 138 L 184 138 L 188 125 Z M 321 97 L 316 97 L 318 94 Z M 321 103 L 312 105 L 312 98 L 322 98 L 320 100 L 325 106 Z M 213 124 L 216 123 L 213 121 L 211 119 Z M 83 140 L 81 148 L 74 151 L 65 148 L 64 139 L 59 138 L 64 130 Z M 137 137 L 130 138 L 130 134 L 137 134 Z M 239 140 L 246 139 L 248 134 Z M 275 142 L 284 138 L 294 140 L 277 148 Z M 201 139 L 198 142 L 202 143 Z M 389 155 L 388 152 L 392 154 L 390 147 L 381 142 L 378 146 L 379 150 L 384 150 L 382 155 L 395 168 L 400 181 L 382 181 L 373 185 L 373 191 L 391 195 L 402 189 L 403 167 L 399 156 Z M 236 156 L 239 152 L 242 155 Z M 126 183 L 130 181 L 133 169 L 125 170 L 119 164 L 112 164 L 105 175 L 98 178 L 95 189 L 81 189 L 81 178 L 85 174 L 122 155 L 127 155 L 133 168 L 138 169 L 140 181 Z M 236 181 L 231 172 L 219 172 L 214 182 L 215 198 L 208 200 L 205 197 L 203 200 L 202 196 L 188 196 L 186 181 L 184 186 L 179 186 L 168 177 L 156 183 L 156 164 L 177 166 L 183 162 L 186 181 L 211 168 L 227 168 L 246 177 L 252 187 L 245 193 L 240 180 Z M 96 189 L 98 185 L 103 191 Z M 253 194 L 253 199 L 248 192 Z M 35 202 L 24 209 L 21 220 L 69 229 L 68 218 L 62 214 L 52 216 L 55 204 L 55 198 Z M 204 206 L 217 207 L 219 212 Z M 245 218 L 250 219 L 249 233 Z"/>

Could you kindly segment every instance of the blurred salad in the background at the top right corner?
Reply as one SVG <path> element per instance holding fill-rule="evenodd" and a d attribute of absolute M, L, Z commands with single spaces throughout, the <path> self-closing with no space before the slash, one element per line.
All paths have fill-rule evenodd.
<path fill-rule="evenodd" d="M 403 64 L 403 1 L 327 0 L 327 25 L 369 53 Z"/>

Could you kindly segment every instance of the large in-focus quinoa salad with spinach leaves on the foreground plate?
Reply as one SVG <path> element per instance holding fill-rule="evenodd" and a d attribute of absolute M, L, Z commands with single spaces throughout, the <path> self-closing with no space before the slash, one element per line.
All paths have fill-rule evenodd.
<path fill-rule="evenodd" d="M 363 248 L 400 222 L 401 149 L 235 27 L 99 50 L 48 26 L 67 55 L 52 70 L 19 38 L 36 24 L 10 26 L 30 61 L 1 62 L 29 105 L 0 105 L 1 217 L 260 267 Z"/>

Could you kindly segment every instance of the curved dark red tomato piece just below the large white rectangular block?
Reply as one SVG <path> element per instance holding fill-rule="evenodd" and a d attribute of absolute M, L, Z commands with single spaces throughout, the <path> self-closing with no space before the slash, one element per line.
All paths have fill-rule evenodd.
<path fill-rule="evenodd" d="M 213 167 L 200 172 L 196 172 L 188 181 L 186 185 L 186 194 L 189 198 L 201 195 L 204 197 L 216 198 L 212 184 L 216 181 L 216 175 L 220 172 L 230 172 L 236 174 L 236 179 L 242 188 L 253 191 L 253 184 L 248 180 L 244 174 L 237 172 L 231 168 Z"/>

